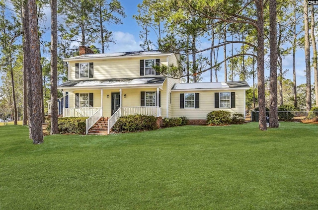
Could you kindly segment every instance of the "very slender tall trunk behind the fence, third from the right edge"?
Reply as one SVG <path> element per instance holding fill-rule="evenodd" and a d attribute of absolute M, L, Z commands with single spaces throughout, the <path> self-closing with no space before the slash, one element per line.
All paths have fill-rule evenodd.
<path fill-rule="evenodd" d="M 293 89 L 294 89 L 294 106 L 297 107 L 297 85 L 296 85 L 296 44 L 297 44 L 297 33 L 296 33 L 296 0 L 294 1 L 294 25 L 293 25 Z"/>

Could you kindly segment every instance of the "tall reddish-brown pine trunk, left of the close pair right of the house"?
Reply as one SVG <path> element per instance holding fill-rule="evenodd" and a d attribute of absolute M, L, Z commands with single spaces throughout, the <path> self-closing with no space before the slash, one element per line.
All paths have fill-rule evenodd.
<path fill-rule="evenodd" d="M 255 1 L 257 12 L 257 84 L 258 84 L 258 108 L 259 129 L 266 131 L 266 101 L 265 101 L 265 77 L 264 77 L 264 2 Z"/>

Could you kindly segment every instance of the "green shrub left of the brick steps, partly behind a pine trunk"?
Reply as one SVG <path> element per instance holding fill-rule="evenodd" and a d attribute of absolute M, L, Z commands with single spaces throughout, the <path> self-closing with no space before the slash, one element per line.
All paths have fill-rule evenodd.
<path fill-rule="evenodd" d="M 84 117 L 65 117 L 58 119 L 59 134 L 80 134 L 86 132 L 86 119 Z M 51 121 L 47 130 L 51 130 Z"/>

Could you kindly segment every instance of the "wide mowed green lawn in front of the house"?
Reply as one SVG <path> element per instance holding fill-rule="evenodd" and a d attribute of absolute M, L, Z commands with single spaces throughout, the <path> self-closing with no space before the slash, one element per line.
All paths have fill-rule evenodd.
<path fill-rule="evenodd" d="M 317 210 L 318 125 L 110 136 L 0 127 L 0 210 Z"/>

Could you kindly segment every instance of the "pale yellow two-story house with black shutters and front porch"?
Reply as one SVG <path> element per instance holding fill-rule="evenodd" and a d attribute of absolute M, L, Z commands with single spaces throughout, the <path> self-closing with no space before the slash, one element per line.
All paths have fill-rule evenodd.
<path fill-rule="evenodd" d="M 58 87 L 68 92 L 63 116 L 89 117 L 86 133 L 101 117 L 109 118 L 109 133 L 118 117 L 129 114 L 185 116 L 190 124 L 205 122 L 214 110 L 245 116 L 247 82 L 181 83 L 154 69 L 176 66 L 178 60 L 178 55 L 158 51 L 91 54 L 80 47 L 79 56 L 64 59 L 69 80 Z"/>

